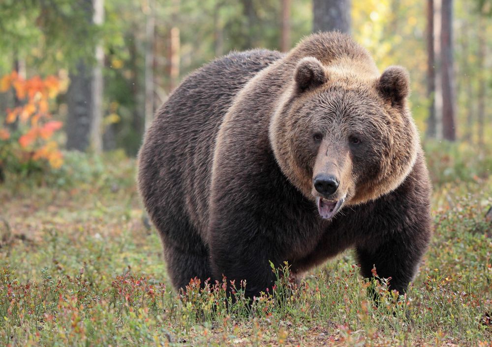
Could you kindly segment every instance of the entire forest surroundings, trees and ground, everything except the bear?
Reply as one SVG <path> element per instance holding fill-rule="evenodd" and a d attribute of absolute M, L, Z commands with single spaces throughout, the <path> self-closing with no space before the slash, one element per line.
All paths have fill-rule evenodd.
<path fill-rule="evenodd" d="M 276 291 L 173 290 L 136 187 L 155 112 L 215 58 L 349 33 L 410 75 L 433 235 L 404 295 L 346 251 Z M 0 344 L 492 343 L 491 0 L 1 0 Z M 380 294 L 379 304 L 368 287 Z"/>

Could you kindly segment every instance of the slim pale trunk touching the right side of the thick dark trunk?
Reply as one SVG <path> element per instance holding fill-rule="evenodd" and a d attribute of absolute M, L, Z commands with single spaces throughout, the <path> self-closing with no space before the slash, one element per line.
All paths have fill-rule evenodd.
<path fill-rule="evenodd" d="M 95 25 L 102 25 L 104 22 L 104 0 L 94 0 Z M 103 99 L 104 99 L 104 80 L 102 69 L 104 67 L 104 49 L 102 42 L 98 42 L 95 47 L 95 66 L 92 74 L 92 123 L 91 123 L 91 145 L 95 153 L 102 152 L 102 118 L 103 118 Z"/>

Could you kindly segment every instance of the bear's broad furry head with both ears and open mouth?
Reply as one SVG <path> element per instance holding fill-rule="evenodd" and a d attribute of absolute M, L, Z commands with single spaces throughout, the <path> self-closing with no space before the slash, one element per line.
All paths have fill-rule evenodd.
<path fill-rule="evenodd" d="M 282 172 L 321 217 L 391 192 L 411 171 L 420 144 L 408 94 L 399 66 L 377 76 L 314 57 L 297 63 L 269 137 Z"/>

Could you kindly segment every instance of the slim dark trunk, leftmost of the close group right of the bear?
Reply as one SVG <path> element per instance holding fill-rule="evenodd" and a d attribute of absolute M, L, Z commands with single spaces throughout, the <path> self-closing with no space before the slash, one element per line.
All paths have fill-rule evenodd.
<path fill-rule="evenodd" d="M 429 100 L 429 118 L 427 135 L 436 137 L 435 119 L 435 56 L 434 56 L 434 1 L 427 0 L 427 98 Z"/>

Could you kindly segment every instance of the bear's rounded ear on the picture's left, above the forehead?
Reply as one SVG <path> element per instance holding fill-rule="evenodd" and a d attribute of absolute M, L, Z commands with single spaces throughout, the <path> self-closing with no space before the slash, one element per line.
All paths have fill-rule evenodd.
<path fill-rule="evenodd" d="M 294 73 L 297 91 L 304 92 L 307 89 L 319 87 L 328 79 L 321 61 L 312 56 L 302 58 L 297 64 Z"/>

